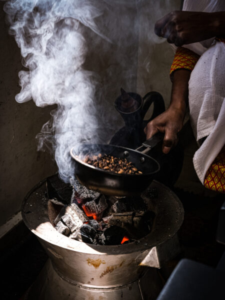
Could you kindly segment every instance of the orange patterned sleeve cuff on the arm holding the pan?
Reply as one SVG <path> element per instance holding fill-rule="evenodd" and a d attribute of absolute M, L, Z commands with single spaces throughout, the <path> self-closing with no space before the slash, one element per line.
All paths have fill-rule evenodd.
<path fill-rule="evenodd" d="M 185 68 L 192 71 L 199 57 L 199 55 L 187 48 L 178 47 L 170 68 L 170 79 L 172 79 L 171 74 L 174 70 Z"/>

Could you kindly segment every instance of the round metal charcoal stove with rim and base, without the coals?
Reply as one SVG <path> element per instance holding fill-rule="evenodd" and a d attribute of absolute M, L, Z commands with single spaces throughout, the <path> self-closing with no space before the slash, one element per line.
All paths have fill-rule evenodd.
<path fill-rule="evenodd" d="M 51 260 L 33 284 L 28 299 L 66 300 L 69 292 L 71 299 L 109 300 L 121 297 L 122 292 L 124 300 L 139 300 L 137 280 L 144 277 L 146 265 L 159 267 L 176 253 L 177 248 L 174 251 L 169 245 L 170 239 L 174 242 L 183 220 L 182 204 L 176 195 L 161 183 L 152 182 L 151 186 L 158 190 L 152 231 L 139 243 L 101 246 L 72 240 L 54 229 L 44 183 L 32 190 L 22 205 L 25 224 L 38 237 Z M 150 276 L 152 270 L 149 268 Z M 144 299 L 153 299 L 150 290 L 154 284 L 141 283 L 141 286 L 143 293 L 147 290 L 145 294 L 149 295 Z"/>

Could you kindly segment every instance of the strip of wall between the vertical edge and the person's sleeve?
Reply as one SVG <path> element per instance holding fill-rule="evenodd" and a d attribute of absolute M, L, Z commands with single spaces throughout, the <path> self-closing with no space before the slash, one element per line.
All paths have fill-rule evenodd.
<path fill-rule="evenodd" d="M 169 70 L 174 52 L 166 39 L 154 34 L 155 22 L 172 10 L 179 10 L 180 0 L 145 0 L 139 5 L 139 49 L 137 90 L 141 95 L 156 90 L 170 101 L 171 82 Z M 147 117 L 150 116 L 148 113 Z"/>

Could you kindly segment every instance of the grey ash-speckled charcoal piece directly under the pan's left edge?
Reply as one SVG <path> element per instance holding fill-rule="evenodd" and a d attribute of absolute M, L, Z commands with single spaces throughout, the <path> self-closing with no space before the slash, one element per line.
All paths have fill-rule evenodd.
<path fill-rule="evenodd" d="M 77 179 L 70 178 L 70 184 L 73 186 L 74 189 L 71 201 L 73 200 L 73 197 L 78 197 L 81 200 L 96 200 L 100 196 L 99 192 L 86 188 L 84 185 L 80 184 Z"/>

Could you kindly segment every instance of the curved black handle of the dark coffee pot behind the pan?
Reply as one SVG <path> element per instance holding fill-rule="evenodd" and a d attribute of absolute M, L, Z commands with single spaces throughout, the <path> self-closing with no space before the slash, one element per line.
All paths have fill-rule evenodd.
<path fill-rule="evenodd" d="M 146 93 L 146 95 L 143 97 L 143 106 L 141 111 L 142 119 L 144 118 L 152 102 L 154 105 L 153 113 L 151 117 L 147 120 L 147 122 L 149 122 L 151 119 L 155 118 L 157 115 L 165 111 L 165 104 L 162 95 L 157 91 L 150 91 Z"/>

